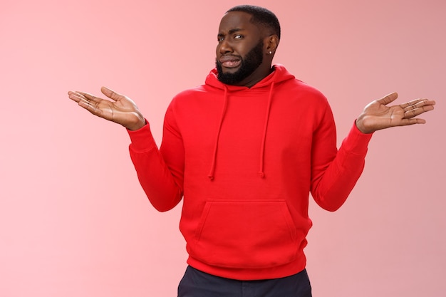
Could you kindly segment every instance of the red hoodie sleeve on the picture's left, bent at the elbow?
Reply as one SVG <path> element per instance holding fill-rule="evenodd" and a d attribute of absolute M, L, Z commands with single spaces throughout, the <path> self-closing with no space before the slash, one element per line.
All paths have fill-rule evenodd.
<path fill-rule="evenodd" d="M 166 113 L 160 149 L 149 124 L 128 134 L 130 157 L 147 198 L 160 212 L 172 209 L 182 199 L 184 149 L 171 110 Z"/>

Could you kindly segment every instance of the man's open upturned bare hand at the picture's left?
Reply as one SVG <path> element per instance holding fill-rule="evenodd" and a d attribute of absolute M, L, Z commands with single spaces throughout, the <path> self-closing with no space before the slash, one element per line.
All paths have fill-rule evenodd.
<path fill-rule="evenodd" d="M 100 91 L 111 100 L 77 91 L 69 91 L 68 97 L 93 115 L 123 125 L 128 130 L 138 130 L 145 125 L 145 118 L 133 100 L 109 88 L 102 87 Z"/>

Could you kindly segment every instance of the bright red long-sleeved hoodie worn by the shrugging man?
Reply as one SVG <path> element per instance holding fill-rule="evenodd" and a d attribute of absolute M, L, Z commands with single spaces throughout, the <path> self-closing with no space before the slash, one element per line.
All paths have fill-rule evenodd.
<path fill-rule="evenodd" d="M 251 88 L 205 85 L 175 96 L 158 150 L 149 125 L 129 131 L 130 156 L 153 206 L 184 196 L 187 263 L 239 280 L 306 266 L 308 195 L 341 207 L 361 175 L 371 135 L 353 125 L 339 151 L 326 98 L 284 66 Z"/>

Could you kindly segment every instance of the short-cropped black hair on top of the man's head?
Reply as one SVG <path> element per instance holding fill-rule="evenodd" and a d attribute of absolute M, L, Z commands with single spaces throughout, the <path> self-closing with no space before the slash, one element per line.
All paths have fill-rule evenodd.
<path fill-rule="evenodd" d="M 246 12 L 247 14 L 251 14 L 252 16 L 251 22 L 253 24 L 261 24 L 262 26 L 271 29 L 273 33 L 277 35 L 280 41 L 279 19 L 277 19 L 277 16 L 272 11 L 265 9 L 264 7 L 254 6 L 254 5 L 234 6 L 227 12 L 230 11 L 242 11 Z"/>

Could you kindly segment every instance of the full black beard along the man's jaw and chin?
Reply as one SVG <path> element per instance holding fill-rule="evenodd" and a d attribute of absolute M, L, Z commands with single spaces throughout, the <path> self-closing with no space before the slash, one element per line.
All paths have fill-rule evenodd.
<path fill-rule="evenodd" d="M 222 63 L 215 59 L 215 66 L 217 67 L 217 78 L 222 83 L 227 85 L 237 85 L 242 80 L 253 73 L 264 60 L 263 41 L 259 41 L 257 45 L 247 53 L 245 58 L 242 58 L 242 65 L 239 70 L 234 73 L 223 73 Z"/>

